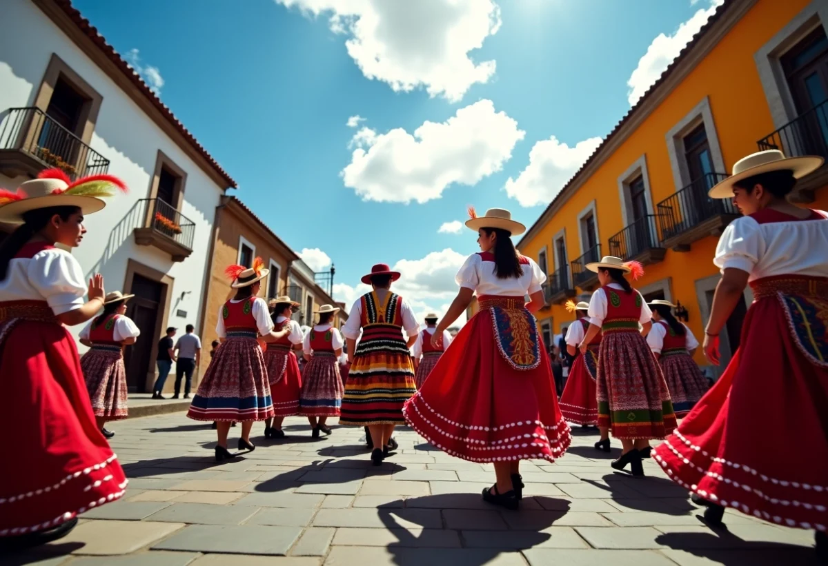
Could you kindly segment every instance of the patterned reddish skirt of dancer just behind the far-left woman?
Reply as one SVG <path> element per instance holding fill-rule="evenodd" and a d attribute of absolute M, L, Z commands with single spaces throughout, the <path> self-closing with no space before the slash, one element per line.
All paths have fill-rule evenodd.
<path fill-rule="evenodd" d="M 91 348 L 80 358 L 92 412 L 107 420 L 127 418 L 127 370 L 120 348 Z"/>

